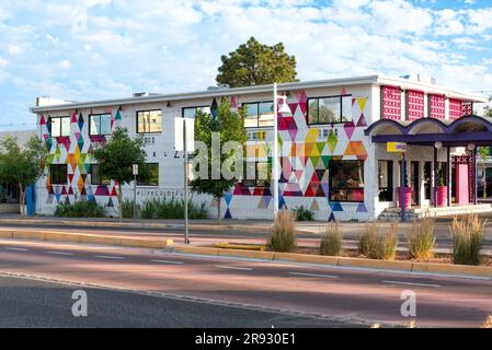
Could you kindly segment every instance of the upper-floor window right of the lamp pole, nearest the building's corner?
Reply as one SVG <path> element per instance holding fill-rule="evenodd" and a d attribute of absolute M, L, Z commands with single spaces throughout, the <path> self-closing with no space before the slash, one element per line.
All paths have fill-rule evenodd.
<path fill-rule="evenodd" d="M 308 124 L 352 121 L 352 95 L 308 98 Z"/>

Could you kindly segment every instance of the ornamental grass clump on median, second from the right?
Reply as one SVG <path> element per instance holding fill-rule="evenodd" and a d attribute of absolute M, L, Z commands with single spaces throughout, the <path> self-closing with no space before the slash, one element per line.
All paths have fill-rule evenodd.
<path fill-rule="evenodd" d="M 415 220 L 407 235 L 410 256 L 417 260 L 426 260 L 434 256 L 436 237 L 434 235 L 435 218 L 425 215 Z"/>

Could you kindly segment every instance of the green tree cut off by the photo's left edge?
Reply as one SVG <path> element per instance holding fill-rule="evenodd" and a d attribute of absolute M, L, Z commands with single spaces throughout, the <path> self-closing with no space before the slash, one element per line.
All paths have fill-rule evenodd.
<path fill-rule="evenodd" d="M 25 215 L 25 188 L 45 175 L 47 153 L 37 136 L 31 137 L 23 148 L 14 137 L 0 141 L 0 178 L 19 186 L 21 215 Z"/>

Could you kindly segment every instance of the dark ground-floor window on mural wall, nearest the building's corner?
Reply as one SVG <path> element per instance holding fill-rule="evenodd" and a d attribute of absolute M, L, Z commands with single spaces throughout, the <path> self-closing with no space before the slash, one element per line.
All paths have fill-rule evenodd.
<path fill-rule="evenodd" d="M 364 161 L 330 161 L 330 200 L 364 201 Z"/>

